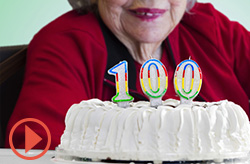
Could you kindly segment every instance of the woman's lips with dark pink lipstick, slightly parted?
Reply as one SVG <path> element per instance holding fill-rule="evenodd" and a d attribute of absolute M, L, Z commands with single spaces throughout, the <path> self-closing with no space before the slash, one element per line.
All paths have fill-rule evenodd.
<path fill-rule="evenodd" d="M 142 20 L 150 21 L 154 20 L 160 16 L 162 16 L 166 10 L 164 9 L 155 9 L 155 8 L 137 8 L 133 10 L 129 10 L 129 12 L 136 16 L 137 18 L 140 18 Z"/>

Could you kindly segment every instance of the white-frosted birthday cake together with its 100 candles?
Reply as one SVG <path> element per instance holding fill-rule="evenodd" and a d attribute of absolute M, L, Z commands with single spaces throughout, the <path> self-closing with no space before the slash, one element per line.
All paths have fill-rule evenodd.
<path fill-rule="evenodd" d="M 167 90 L 167 71 L 160 61 L 150 59 L 140 71 L 142 90 L 150 102 L 130 102 L 126 67 L 123 61 L 109 71 L 116 76 L 115 103 L 91 99 L 71 106 L 57 158 L 203 161 L 247 156 L 250 124 L 245 111 L 227 100 L 192 101 L 202 83 L 193 60 L 183 61 L 175 72 L 180 101 L 161 100 Z"/>

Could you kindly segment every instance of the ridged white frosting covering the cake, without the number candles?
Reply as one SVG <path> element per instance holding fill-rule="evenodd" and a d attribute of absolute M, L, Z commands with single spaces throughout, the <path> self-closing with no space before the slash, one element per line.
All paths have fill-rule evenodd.
<path fill-rule="evenodd" d="M 120 108 L 98 99 L 69 109 L 60 149 L 70 155 L 116 160 L 210 160 L 245 156 L 250 124 L 244 110 L 227 100 L 213 103 L 163 101 Z"/>

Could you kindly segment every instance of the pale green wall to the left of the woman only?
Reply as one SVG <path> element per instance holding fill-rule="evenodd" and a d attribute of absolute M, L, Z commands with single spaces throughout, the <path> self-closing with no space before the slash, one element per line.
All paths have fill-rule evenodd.
<path fill-rule="evenodd" d="M 28 44 L 39 29 L 69 10 L 67 0 L 0 0 L 0 46 Z"/>

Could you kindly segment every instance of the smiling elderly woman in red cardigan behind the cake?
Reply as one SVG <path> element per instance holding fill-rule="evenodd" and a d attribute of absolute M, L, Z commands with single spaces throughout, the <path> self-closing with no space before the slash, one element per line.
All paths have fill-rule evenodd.
<path fill-rule="evenodd" d="M 249 115 L 250 33 L 211 4 L 195 0 L 70 0 L 76 9 L 54 20 L 29 45 L 26 75 L 9 122 L 32 117 L 52 133 L 51 149 L 59 144 L 68 108 L 81 100 L 111 100 L 115 81 L 107 70 L 127 60 L 130 94 L 146 100 L 139 82 L 141 64 L 156 58 L 166 66 L 174 91 L 176 65 L 192 57 L 203 71 L 198 101 L 228 99 Z M 36 124 L 38 135 L 45 131 Z M 24 147 L 22 128 L 16 148 Z M 8 138 L 8 137 L 6 137 Z M 44 148 L 43 139 L 37 147 Z M 8 143 L 6 143 L 8 146 Z"/>

